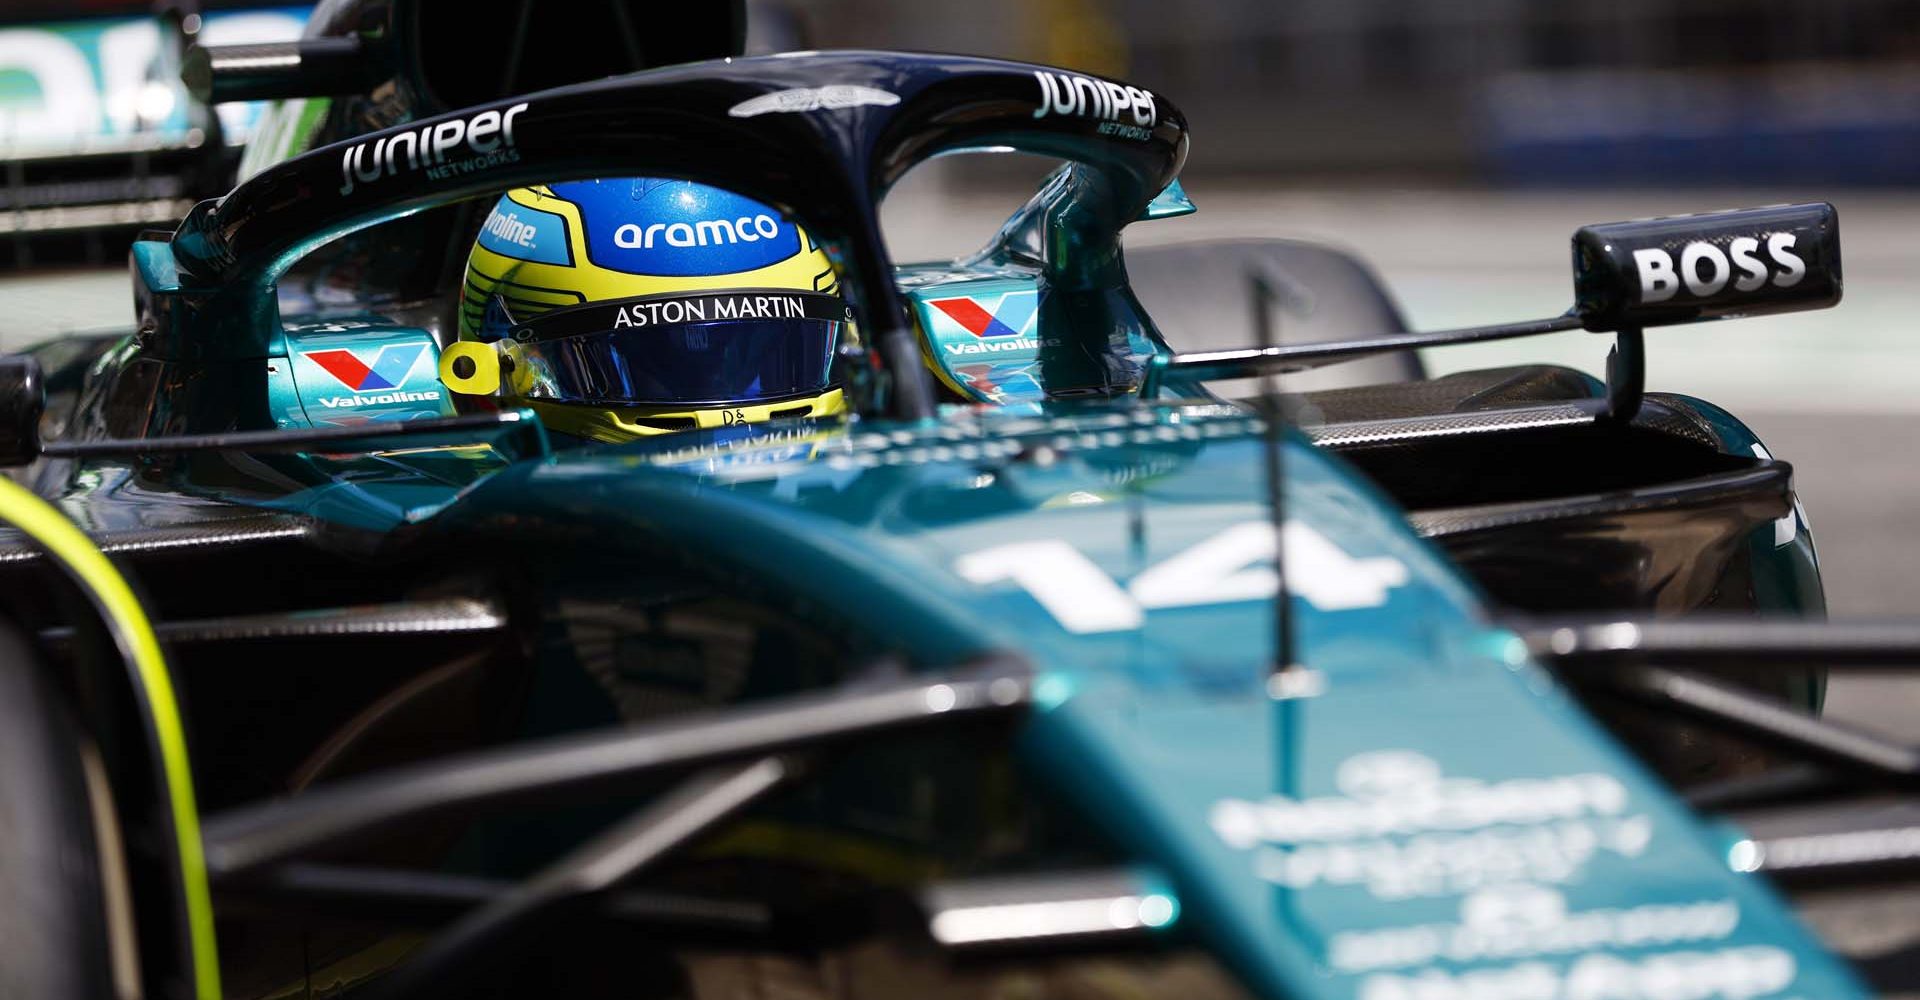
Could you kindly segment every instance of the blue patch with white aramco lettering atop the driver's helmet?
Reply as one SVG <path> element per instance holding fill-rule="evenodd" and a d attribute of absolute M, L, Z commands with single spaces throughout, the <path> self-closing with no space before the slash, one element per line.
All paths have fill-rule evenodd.
<path fill-rule="evenodd" d="M 737 274 L 801 253 L 801 232 L 768 205 L 684 180 L 553 184 L 580 205 L 588 259 L 628 274 Z"/>

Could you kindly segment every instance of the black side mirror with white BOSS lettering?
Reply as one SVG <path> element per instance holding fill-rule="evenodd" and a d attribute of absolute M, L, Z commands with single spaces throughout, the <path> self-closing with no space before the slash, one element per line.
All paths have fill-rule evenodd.
<path fill-rule="evenodd" d="M 1839 301 L 1839 217 L 1816 202 L 1584 226 L 1572 288 L 1588 330 L 1826 309 Z"/>

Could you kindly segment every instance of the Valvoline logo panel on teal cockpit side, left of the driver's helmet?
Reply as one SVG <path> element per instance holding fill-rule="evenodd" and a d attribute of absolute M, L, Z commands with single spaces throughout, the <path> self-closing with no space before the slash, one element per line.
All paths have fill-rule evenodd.
<path fill-rule="evenodd" d="M 288 361 L 313 424 L 417 420 L 453 413 L 434 340 L 367 321 L 288 326 Z"/>

